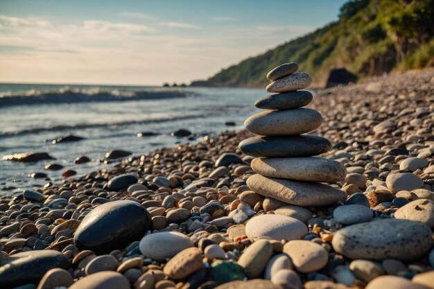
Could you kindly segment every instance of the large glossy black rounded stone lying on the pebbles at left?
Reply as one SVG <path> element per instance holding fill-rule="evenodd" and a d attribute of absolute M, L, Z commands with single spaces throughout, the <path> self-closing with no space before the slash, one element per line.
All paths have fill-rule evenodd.
<path fill-rule="evenodd" d="M 137 202 L 119 200 L 100 204 L 88 213 L 73 239 L 79 249 L 103 254 L 139 240 L 150 227 L 151 218 L 145 207 Z"/>

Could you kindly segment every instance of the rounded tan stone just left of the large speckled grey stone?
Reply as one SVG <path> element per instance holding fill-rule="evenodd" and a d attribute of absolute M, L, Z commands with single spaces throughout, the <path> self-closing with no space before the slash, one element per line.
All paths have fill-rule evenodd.
<path fill-rule="evenodd" d="M 320 270 L 329 261 L 327 250 L 308 240 L 290 240 L 284 245 L 284 253 L 293 262 L 295 270 L 302 273 Z"/>

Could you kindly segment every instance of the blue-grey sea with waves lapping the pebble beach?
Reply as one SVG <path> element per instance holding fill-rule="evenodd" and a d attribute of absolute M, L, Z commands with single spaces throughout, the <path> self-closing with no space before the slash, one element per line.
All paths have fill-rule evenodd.
<path fill-rule="evenodd" d="M 196 143 L 207 134 L 241 130 L 248 116 L 259 112 L 254 102 L 263 89 L 205 87 L 127 87 L 107 85 L 0 84 L 0 194 L 44 186 L 34 179 L 42 172 L 60 183 L 64 170 L 77 176 L 104 164 L 106 152 L 128 150 L 143 155 L 177 143 Z M 189 138 L 173 137 L 189 130 Z M 153 132 L 150 137 L 137 137 Z M 85 139 L 53 144 L 53 139 L 73 134 Z M 30 164 L 3 160 L 20 152 L 48 152 L 55 160 Z M 92 161 L 75 165 L 74 159 Z M 62 170 L 45 170 L 55 162 Z"/>

